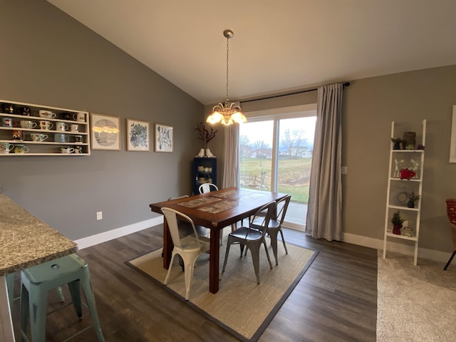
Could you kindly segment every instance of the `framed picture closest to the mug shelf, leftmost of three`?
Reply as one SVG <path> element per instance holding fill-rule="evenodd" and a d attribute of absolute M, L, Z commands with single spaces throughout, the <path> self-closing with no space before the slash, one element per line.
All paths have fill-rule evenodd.
<path fill-rule="evenodd" d="M 90 113 L 92 150 L 120 150 L 120 120 L 117 116 Z"/>

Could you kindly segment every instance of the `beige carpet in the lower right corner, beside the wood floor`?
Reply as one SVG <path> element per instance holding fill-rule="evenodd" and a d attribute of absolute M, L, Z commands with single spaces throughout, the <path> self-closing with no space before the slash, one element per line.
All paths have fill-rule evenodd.
<path fill-rule="evenodd" d="M 377 342 L 456 341 L 456 262 L 378 251 Z"/>

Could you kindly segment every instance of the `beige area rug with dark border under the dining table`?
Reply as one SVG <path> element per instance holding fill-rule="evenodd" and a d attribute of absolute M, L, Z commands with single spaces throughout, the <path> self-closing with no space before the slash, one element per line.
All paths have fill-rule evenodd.
<path fill-rule="evenodd" d="M 167 270 L 162 266 L 162 249 L 126 261 L 126 264 L 156 281 L 163 289 L 171 291 L 239 340 L 257 341 L 318 253 L 292 244 L 287 244 L 287 247 L 289 254 L 285 254 L 279 242 L 277 266 L 269 247 L 272 269 L 269 269 L 266 254 L 264 249 L 261 249 L 261 283 L 257 284 L 250 253 L 241 259 L 239 245 L 233 245 L 217 294 L 209 292 L 209 254 L 202 254 L 197 260 L 193 274 L 189 301 L 185 301 L 184 273 L 178 265 L 177 258 L 172 266 L 168 285 L 163 284 Z M 220 269 L 225 249 L 226 244 L 223 244 L 220 247 Z"/>

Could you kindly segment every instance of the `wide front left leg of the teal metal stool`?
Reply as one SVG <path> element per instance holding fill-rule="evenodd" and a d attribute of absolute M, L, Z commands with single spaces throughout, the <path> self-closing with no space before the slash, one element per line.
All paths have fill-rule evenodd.
<path fill-rule="evenodd" d="M 48 291 L 31 284 L 28 293 L 28 308 L 30 314 L 30 330 L 32 342 L 46 341 L 46 305 Z"/>

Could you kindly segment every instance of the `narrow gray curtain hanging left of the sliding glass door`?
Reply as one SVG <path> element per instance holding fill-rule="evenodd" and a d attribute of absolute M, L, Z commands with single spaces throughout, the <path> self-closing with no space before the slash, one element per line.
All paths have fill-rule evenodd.
<path fill-rule="evenodd" d="M 239 125 L 224 128 L 222 189 L 239 187 Z"/>

